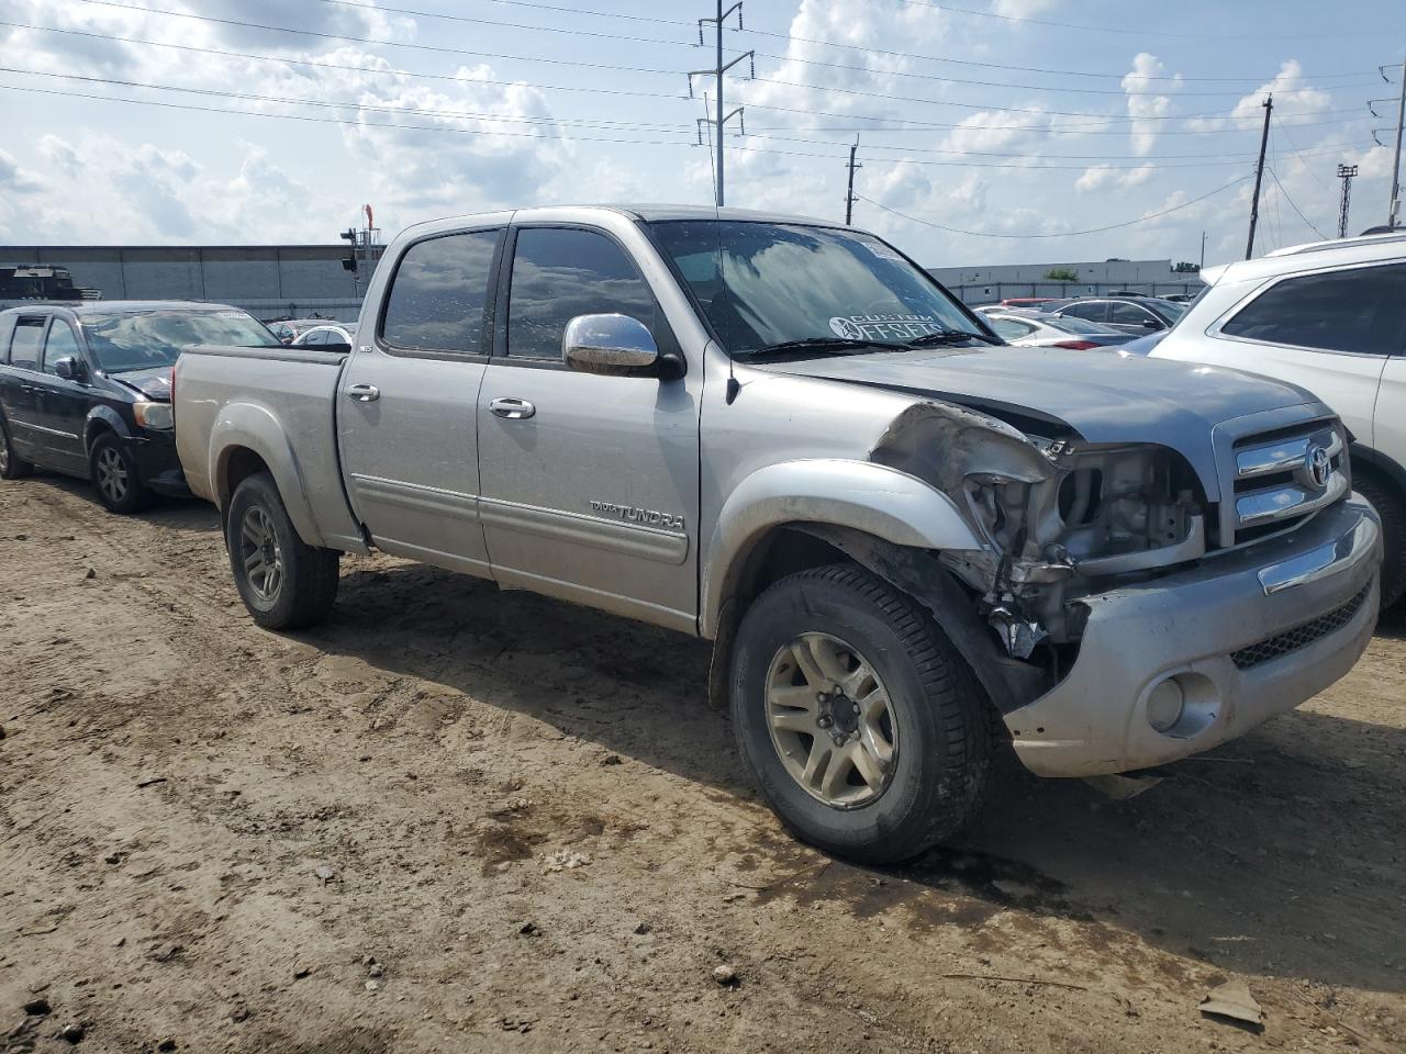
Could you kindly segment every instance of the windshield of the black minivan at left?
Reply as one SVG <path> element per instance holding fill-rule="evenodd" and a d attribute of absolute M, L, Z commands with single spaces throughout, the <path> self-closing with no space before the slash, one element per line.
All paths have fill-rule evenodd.
<path fill-rule="evenodd" d="M 195 344 L 283 347 L 253 315 L 233 308 L 84 313 L 80 322 L 94 367 L 107 374 L 159 370 Z"/>

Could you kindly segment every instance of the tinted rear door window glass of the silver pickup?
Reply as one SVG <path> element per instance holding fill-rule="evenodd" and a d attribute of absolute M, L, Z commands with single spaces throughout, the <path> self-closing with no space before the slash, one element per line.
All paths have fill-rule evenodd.
<path fill-rule="evenodd" d="M 385 299 L 381 339 L 406 351 L 481 354 L 501 230 L 468 230 L 405 250 Z"/>

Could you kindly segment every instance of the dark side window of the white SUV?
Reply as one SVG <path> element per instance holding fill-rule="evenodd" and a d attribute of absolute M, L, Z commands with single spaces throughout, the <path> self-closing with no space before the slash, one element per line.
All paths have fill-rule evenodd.
<path fill-rule="evenodd" d="M 1400 354 L 1406 343 L 1406 264 L 1286 278 L 1241 308 L 1220 332 L 1326 351 Z"/>

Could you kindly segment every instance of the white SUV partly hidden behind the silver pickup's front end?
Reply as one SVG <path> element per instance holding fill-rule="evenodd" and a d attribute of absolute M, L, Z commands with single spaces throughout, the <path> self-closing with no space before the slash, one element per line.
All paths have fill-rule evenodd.
<path fill-rule="evenodd" d="M 1149 353 L 1308 388 L 1353 433 L 1354 488 L 1382 516 L 1382 607 L 1406 594 L 1406 232 L 1281 249 L 1206 268 L 1206 289 Z"/>

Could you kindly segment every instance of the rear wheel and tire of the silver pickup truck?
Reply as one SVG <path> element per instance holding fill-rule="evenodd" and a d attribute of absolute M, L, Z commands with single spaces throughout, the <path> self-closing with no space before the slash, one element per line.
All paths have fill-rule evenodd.
<path fill-rule="evenodd" d="M 342 554 L 298 537 L 267 472 L 249 476 L 235 489 L 225 545 L 239 596 L 259 625 L 301 630 L 328 617 L 337 599 Z"/>

